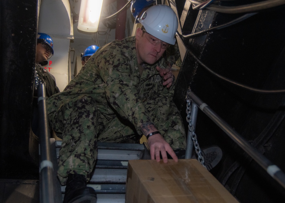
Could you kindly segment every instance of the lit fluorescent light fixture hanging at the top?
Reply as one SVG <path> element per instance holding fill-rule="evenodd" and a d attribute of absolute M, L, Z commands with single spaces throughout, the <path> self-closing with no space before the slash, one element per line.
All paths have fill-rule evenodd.
<path fill-rule="evenodd" d="M 103 0 L 81 0 L 78 30 L 97 32 Z"/>

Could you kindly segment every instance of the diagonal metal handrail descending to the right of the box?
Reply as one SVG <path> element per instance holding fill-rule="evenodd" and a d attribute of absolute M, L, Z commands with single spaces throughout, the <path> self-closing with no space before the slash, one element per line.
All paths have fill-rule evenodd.
<path fill-rule="evenodd" d="M 285 174 L 274 165 L 269 159 L 253 147 L 245 138 L 239 135 L 219 115 L 217 115 L 206 103 L 204 103 L 192 91 L 189 91 L 187 98 L 194 102 L 203 113 L 216 123 L 235 143 L 237 143 L 251 158 L 253 158 L 272 178 L 285 188 Z"/>

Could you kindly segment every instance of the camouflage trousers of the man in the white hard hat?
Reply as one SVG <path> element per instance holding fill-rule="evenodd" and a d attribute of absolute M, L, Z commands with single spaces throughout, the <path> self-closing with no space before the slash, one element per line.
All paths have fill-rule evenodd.
<path fill-rule="evenodd" d="M 155 126 L 173 149 L 186 147 L 186 136 L 178 109 L 171 101 L 147 102 Z M 157 116 L 160 115 L 160 116 Z M 164 115 L 164 116 L 161 116 Z M 123 142 L 138 136 L 133 125 L 124 119 L 107 119 L 96 107 L 91 96 L 69 100 L 57 111 L 49 113 L 50 125 L 62 139 L 59 153 L 58 178 L 66 183 L 68 174 L 86 175 L 87 181 L 95 166 L 97 142 Z"/>

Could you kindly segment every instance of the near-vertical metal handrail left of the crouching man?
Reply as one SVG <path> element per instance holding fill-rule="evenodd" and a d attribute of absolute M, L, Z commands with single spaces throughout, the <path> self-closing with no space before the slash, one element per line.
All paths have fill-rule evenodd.
<path fill-rule="evenodd" d="M 54 167 L 50 152 L 50 130 L 47 119 L 46 89 L 40 83 L 38 89 L 39 141 L 40 141 L 40 202 L 54 203 Z"/>

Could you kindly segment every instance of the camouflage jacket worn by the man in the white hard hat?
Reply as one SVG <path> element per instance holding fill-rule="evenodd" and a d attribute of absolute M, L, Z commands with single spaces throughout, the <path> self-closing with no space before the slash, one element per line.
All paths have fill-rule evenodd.
<path fill-rule="evenodd" d="M 142 124 L 153 123 L 146 102 L 159 98 L 172 100 L 174 85 L 170 89 L 162 86 L 163 78 L 155 69 L 161 60 L 154 65 L 143 64 L 140 76 L 135 43 L 135 37 L 128 37 L 100 47 L 64 91 L 55 95 L 60 99 L 55 100 L 55 96 L 48 99 L 48 113 L 85 94 L 94 98 L 105 117 L 112 119 L 119 115 L 128 119 L 141 134 Z"/>

